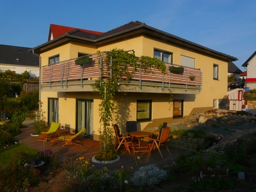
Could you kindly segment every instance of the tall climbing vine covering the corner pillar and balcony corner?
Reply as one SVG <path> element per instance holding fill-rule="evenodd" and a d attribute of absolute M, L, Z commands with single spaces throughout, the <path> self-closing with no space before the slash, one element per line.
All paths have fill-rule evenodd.
<path fill-rule="evenodd" d="M 99 52 L 99 57 L 101 56 Z M 112 65 L 109 61 L 112 58 Z M 141 56 L 138 58 L 134 52 L 122 51 L 120 49 L 113 49 L 106 54 L 106 59 L 102 61 L 106 63 L 108 72 L 112 70 L 112 76 L 102 79 L 99 78 L 92 84 L 93 90 L 100 94 L 99 116 L 101 127 L 99 129 L 99 143 L 100 150 L 95 156 L 98 161 L 111 161 L 117 158 L 115 149 L 115 137 L 113 136 L 113 113 L 118 108 L 115 102 L 116 92 L 121 90 L 120 84 L 127 86 L 132 79 L 132 74 L 142 68 L 145 72 L 151 72 L 154 66 L 161 72 L 166 72 L 166 65 L 161 60 L 150 58 L 148 56 Z M 125 65 L 124 65 L 125 63 Z M 132 67 L 132 71 L 128 70 Z M 109 72 L 110 73 L 110 72 Z"/>

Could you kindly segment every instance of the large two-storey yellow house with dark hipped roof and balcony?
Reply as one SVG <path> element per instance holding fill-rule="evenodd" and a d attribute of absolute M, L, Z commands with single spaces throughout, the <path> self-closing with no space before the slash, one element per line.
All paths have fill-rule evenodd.
<path fill-rule="evenodd" d="M 103 57 L 104 51 L 114 48 L 134 51 L 138 57 L 158 58 L 167 69 L 166 74 L 137 72 L 125 87 L 126 95 L 116 93 L 118 109 L 113 123 L 120 125 L 122 132 L 127 120 L 136 121 L 140 131 L 218 108 L 227 98 L 228 62 L 237 60 L 233 56 L 138 21 L 106 33 L 63 29 L 68 27 L 51 25 L 49 41 L 31 49 L 42 58 L 41 102 L 49 124 L 60 122 L 69 132 L 85 127 L 88 136 L 99 140 L 100 97 L 91 85 L 94 79 L 104 77 L 100 71 L 104 64 L 95 53 L 100 51 Z M 84 54 L 92 58 L 92 63 L 76 65 L 76 58 Z M 182 65 L 184 72 L 170 72 L 172 65 Z M 191 75 L 194 80 L 189 79 Z"/>

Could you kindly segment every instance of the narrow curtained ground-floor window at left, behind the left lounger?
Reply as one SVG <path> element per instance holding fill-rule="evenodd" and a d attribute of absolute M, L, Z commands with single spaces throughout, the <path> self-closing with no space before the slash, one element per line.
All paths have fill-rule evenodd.
<path fill-rule="evenodd" d="M 48 124 L 51 122 L 59 122 L 59 99 L 48 99 Z"/>

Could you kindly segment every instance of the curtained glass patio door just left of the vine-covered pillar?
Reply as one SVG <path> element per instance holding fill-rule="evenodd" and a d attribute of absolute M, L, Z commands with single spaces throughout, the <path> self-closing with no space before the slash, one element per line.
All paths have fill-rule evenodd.
<path fill-rule="evenodd" d="M 77 99 L 76 132 L 86 128 L 86 136 L 93 137 L 93 100 Z"/>

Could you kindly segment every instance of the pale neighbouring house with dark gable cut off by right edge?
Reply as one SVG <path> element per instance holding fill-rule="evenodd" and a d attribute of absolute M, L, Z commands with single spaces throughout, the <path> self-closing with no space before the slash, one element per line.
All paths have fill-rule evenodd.
<path fill-rule="evenodd" d="M 250 90 L 256 89 L 256 51 L 243 63 L 242 67 L 247 68 L 245 86 L 249 87 Z"/>

